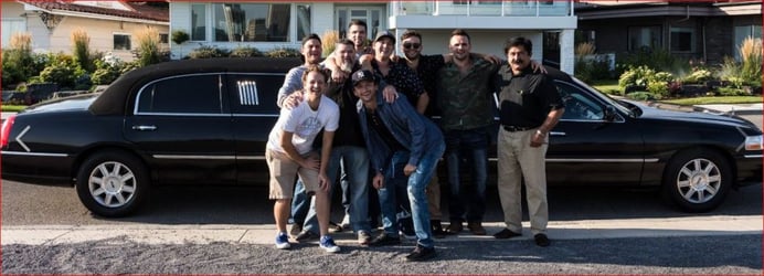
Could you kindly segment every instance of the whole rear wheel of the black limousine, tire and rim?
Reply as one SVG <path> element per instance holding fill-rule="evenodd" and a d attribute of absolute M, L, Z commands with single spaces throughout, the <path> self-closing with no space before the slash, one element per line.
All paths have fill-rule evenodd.
<path fill-rule="evenodd" d="M 119 217 L 132 213 L 147 197 L 148 170 L 135 156 L 124 151 L 96 152 L 77 173 L 79 201 L 94 214 Z"/>

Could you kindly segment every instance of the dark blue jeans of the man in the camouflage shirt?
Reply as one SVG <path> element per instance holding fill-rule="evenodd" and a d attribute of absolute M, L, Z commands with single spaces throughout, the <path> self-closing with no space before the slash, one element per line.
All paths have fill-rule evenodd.
<path fill-rule="evenodd" d="M 452 222 L 482 222 L 486 213 L 486 181 L 488 178 L 488 129 L 449 130 L 445 135 L 448 166 L 448 215 Z M 466 160 L 471 168 L 473 192 L 461 191 L 459 168 Z M 468 206 L 468 208 L 467 208 Z"/>

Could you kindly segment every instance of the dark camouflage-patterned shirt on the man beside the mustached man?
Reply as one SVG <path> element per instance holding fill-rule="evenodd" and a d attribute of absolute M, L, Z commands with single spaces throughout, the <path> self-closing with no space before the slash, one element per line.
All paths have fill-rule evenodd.
<path fill-rule="evenodd" d="M 464 75 L 454 63 L 438 71 L 437 104 L 444 130 L 468 130 L 494 123 L 492 76 L 499 65 L 484 59 L 471 60 L 473 66 Z"/>

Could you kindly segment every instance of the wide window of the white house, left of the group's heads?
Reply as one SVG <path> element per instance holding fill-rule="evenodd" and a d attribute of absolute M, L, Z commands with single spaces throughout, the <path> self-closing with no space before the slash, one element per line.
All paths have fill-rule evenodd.
<path fill-rule="evenodd" d="M 289 41 L 291 4 L 216 3 L 215 41 Z"/>

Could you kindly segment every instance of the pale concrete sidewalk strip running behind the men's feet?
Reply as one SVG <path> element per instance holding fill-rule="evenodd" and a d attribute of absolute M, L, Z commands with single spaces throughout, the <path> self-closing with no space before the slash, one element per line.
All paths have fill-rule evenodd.
<path fill-rule="evenodd" d="M 436 243 L 494 240 L 491 233 L 503 227 L 502 222 L 487 222 L 489 235 L 476 236 L 465 231 L 459 236 L 436 240 Z M 529 241 L 529 223 L 523 222 L 523 235 L 510 241 Z M 708 236 L 762 234 L 762 215 L 702 216 L 667 219 L 614 219 L 551 221 L 548 234 L 552 240 L 626 238 L 655 236 Z M 3 226 L 0 241 L 7 244 L 71 244 L 87 241 L 130 241 L 146 244 L 210 244 L 216 242 L 273 244 L 275 225 L 209 224 L 209 225 L 22 225 Z M 338 244 L 354 245 L 350 231 L 332 234 Z"/>

